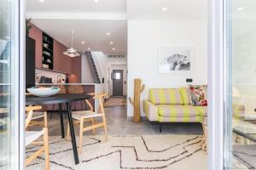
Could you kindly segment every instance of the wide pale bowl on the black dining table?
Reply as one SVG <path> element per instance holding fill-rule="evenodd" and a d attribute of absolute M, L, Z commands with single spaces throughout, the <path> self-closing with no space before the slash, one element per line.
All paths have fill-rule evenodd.
<path fill-rule="evenodd" d="M 55 94 L 58 94 L 61 91 L 61 88 L 55 88 L 55 87 L 51 87 L 51 88 L 26 88 L 26 90 L 35 96 L 38 97 L 49 97 Z"/>

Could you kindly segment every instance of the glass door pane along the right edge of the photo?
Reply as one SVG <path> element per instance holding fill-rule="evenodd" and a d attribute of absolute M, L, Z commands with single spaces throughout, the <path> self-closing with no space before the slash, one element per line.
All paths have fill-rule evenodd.
<path fill-rule="evenodd" d="M 227 0 L 226 169 L 256 169 L 256 1 Z"/>

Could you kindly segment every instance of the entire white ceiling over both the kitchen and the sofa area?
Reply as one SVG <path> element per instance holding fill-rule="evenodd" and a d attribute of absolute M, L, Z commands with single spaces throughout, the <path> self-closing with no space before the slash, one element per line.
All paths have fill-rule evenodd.
<path fill-rule="evenodd" d="M 74 48 L 126 55 L 127 20 L 207 20 L 207 0 L 26 0 L 26 18 L 68 47 L 73 30 Z"/>

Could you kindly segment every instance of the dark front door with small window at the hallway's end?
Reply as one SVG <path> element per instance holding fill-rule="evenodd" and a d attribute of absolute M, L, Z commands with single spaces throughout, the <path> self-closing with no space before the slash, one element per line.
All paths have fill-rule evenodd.
<path fill-rule="evenodd" d="M 123 70 L 113 70 L 113 96 L 123 96 Z"/>

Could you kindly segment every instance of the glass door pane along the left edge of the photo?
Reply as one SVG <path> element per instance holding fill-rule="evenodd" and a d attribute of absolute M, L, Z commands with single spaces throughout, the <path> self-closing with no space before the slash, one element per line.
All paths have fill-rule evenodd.
<path fill-rule="evenodd" d="M 15 41 L 17 26 L 15 17 L 18 10 L 15 10 L 18 1 L 0 1 L 0 169 L 15 169 L 19 166 L 17 145 L 19 140 L 18 115 L 15 114 L 18 108 L 15 89 L 19 84 L 15 83 L 15 71 L 17 69 L 16 59 L 19 51 L 18 43 Z M 15 30 L 16 29 L 16 30 Z M 16 92 L 17 93 L 17 92 Z M 15 102 L 16 100 L 16 102 Z"/>

